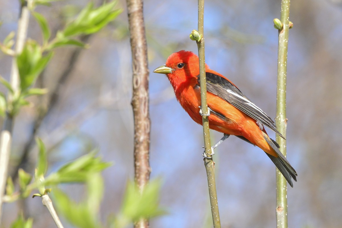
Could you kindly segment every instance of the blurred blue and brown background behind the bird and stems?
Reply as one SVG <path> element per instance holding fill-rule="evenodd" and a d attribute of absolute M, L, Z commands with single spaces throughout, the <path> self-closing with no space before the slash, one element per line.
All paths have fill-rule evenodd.
<path fill-rule="evenodd" d="M 19 1 L 0 1 L 0 40 L 17 28 Z M 96 2 L 96 1 L 95 1 Z M 85 0 L 55 2 L 37 11 L 56 33 Z M 101 2 L 97 1 L 97 5 Z M 49 150 L 49 172 L 94 148 L 114 165 L 103 172 L 105 200 L 101 214 L 118 211 L 128 179 L 133 179 L 131 49 L 126 2 L 124 12 L 96 35 L 81 37 L 89 49 L 58 49 L 37 86 L 49 89 L 31 99 L 16 118 L 10 174 L 18 167 L 33 172 L 37 149 L 33 135 Z M 197 1 L 144 3 L 149 69 L 173 52 L 197 53 L 189 33 L 197 29 Z M 214 0 L 205 5 L 206 63 L 231 79 L 269 116 L 275 117 L 280 1 Z M 298 172 L 288 189 L 289 227 L 332 228 L 342 224 L 342 1 L 291 1 L 287 74 L 287 152 Z M 41 41 L 31 17 L 28 37 Z M 0 73 L 8 79 L 11 58 L 0 53 Z M 174 98 L 164 75 L 150 73 L 152 121 L 151 178 L 163 180 L 160 204 L 165 216 L 151 227 L 211 227 L 211 212 L 202 158 L 202 127 Z M 5 89 L 1 87 L 1 91 Z M 176 124 L 175 124 L 176 123 Z M 274 138 L 270 130 L 269 135 Z M 212 140 L 222 135 L 212 132 Z M 180 159 L 179 159 L 180 158 Z M 230 137 L 216 149 L 216 187 L 222 227 L 275 227 L 275 167 L 258 148 Z M 71 191 L 72 189 L 72 191 Z M 75 200 L 82 186 L 67 185 Z M 34 227 L 54 227 L 40 199 L 5 204 L 9 227 L 18 208 L 34 217 Z M 65 222 L 64 222 L 65 223 Z M 72 227 L 68 224 L 65 227 Z"/>

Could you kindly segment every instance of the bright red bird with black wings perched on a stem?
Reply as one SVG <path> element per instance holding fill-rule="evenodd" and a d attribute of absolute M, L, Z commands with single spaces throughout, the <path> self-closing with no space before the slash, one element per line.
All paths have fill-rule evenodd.
<path fill-rule="evenodd" d="M 170 55 L 165 65 L 155 69 L 168 77 L 177 100 L 189 116 L 202 125 L 199 61 L 193 52 L 179 51 Z M 260 147 L 278 167 L 293 187 L 297 172 L 279 150 L 279 145 L 268 137 L 264 125 L 282 136 L 274 121 L 248 99 L 231 81 L 206 65 L 207 103 L 210 110 L 209 127 L 225 136 L 237 137 Z M 222 138 L 223 140 L 225 139 Z M 285 138 L 284 138 L 285 139 Z"/>

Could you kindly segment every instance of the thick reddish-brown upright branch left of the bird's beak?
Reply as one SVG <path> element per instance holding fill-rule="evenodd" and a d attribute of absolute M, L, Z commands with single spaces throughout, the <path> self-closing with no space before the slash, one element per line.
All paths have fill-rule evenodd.
<path fill-rule="evenodd" d="M 148 97 L 147 44 L 142 0 L 127 0 L 128 23 L 132 49 L 134 115 L 134 179 L 142 192 L 149 181 L 150 119 Z M 147 228 L 147 219 L 141 219 L 134 227 Z"/>

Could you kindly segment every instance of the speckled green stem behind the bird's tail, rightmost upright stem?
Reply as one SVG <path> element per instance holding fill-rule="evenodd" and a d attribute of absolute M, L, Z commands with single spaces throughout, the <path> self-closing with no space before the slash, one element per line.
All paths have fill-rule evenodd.
<path fill-rule="evenodd" d="M 286 72 L 287 49 L 289 38 L 290 0 L 281 1 L 280 21 L 284 25 L 278 33 L 278 75 L 277 75 L 277 106 L 276 126 L 279 132 L 286 137 Z M 279 135 L 276 141 L 280 151 L 286 157 L 286 140 Z M 287 182 L 284 176 L 276 169 L 276 219 L 277 228 L 288 228 L 287 223 Z"/>

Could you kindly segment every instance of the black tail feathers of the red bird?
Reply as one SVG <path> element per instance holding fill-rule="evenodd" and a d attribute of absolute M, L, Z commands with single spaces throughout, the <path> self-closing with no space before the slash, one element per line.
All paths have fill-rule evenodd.
<path fill-rule="evenodd" d="M 264 135 L 264 138 L 268 145 L 272 147 L 272 149 L 277 153 L 278 157 L 274 157 L 268 153 L 267 156 L 273 161 L 273 163 L 277 166 L 278 170 L 285 177 L 289 185 L 293 188 L 292 178 L 294 181 L 297 181 L 297 172 L 290 165 L 288 160 L 284 157 L 284 155 L 279 150 L 279 145 L 273 139 L 269 138 L 267 135 Z M 291 178 L 292 177 L 292 178 Z"/>

